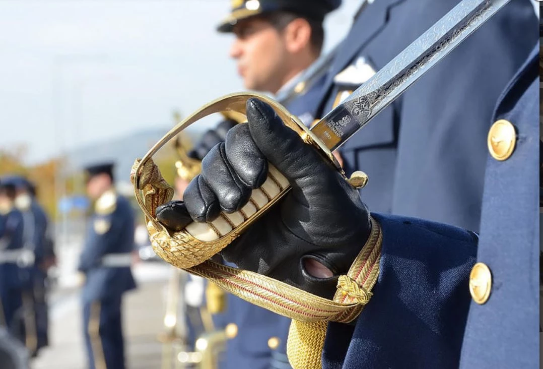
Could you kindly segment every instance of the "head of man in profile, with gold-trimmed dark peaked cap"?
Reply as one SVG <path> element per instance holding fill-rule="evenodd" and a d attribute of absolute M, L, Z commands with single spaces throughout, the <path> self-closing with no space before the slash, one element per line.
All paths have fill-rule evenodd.
<path fill-rule="evenodd" d="M 281 99 L 301 81 L 296 77 L 320 56 L 324 43 L 323 21 L 340 0 L 232 1 L 231 14 L 218 31 L 233 33 L 230 57 L 248 90 L 267 91 Z M 304 91 L 299 84 L 298 93 Z M 307 91 L 307 90 L 306 90 Z M 292 110 L 307 109 L 289 104 Z M 302 115 L 302 114 L 298 114 Z"/>

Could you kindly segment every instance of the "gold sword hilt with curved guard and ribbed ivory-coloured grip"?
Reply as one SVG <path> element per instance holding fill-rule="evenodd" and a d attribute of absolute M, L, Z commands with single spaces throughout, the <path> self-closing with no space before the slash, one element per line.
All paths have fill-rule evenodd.
<path fill-rule="evenodd" d="M 220 212 L 219 216 L 211 222 L 193 222 L 184 230 L 173 233 L 168 232 L 156 220 L 156 208 L 172 199 L 173 189 L 163 180 L 160 170 L 154 165 L 151 157 L 182 130 L 205 116 L 222 111 L 234 111 L 246 116 L 245 106 L 248 99 L 252 97 L 268 103 L 287 127 L 298 133 L 304 142 L 317 148 L 324 160 L 329 161 L 343 173 L 336 158 L 324 143 L 297 117 L 269 97 L 242 92 L 226 95 L 204 105 L 162 137 L 143 159 L 136 160 L 132 168 L 131 179 L 137 202 L 147 218 L 151 244 L 157 255 L 177 267 L 193 267 L 220 252 L 277 203 L 291 187 L 287 178 L 270 164 L 268 178 L 261 187 L 252 191 L 248 203 L 241 210 L 232 213 Z"/>

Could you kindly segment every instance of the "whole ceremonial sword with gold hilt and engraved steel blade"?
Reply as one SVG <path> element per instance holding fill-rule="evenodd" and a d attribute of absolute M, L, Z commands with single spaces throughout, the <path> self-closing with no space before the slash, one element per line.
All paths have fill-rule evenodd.
<path fill-rule="evenodd" d="M 250 202 L 241 210 L 228 214 L 221 212 L 220 216 L 211 222 L 193 222 L 182 231 L 169 233 L 156 220 L 155 209 L 157 205 L 171 199 L 173 190 L 161 176 L 156 176 L 157 168 L 150 158 L 190 124 L 206 115 L 224 110 L 245 112 L 245 103 L 248 99 L 257 97 L 270 104 L 283 123 L 300 134 L 306 143 L 310 143 L 325 157 L 336 162 L 331 153 L 333 150 L 343 145 L 371 118 L 392 103 L 509 1 L 462 0 L 367 82 L 358 87 L 338 107 L 326 114 L 311 130 L 308 130 L 298 118 L 291 115 L 280 104 L 264 95 L 249 92 L 226 95 L 194 112 L 162 137 L 141 160 L 136 160 L 132 168 L 131 176 L 136 199 L 149 221 L 147 228 L 155 252 L 177 267 L 187 268 L 191 273 L 213 278 L 210 277 L 210 273 L 201 268 L 201 265 L 228 246 L 250 224 L 279 201 L 290 188 L 288 180 L 273 165 L 270 165 L 268 179 L 262 187 L 252 191 Z M 363 184 L 355 184 L 356 178 L 352 182 L 351 177 L 349 182 L 354 186 L 363 186 Z M 146 201 L 143 201 L 142 191 Z M 198 270 L 193 268 L 197 265 Z M 255 278 L 258 277 L 255 276 Z M 232 292 L 231 286 L 220 285 Z"/>

